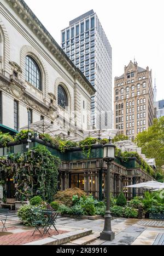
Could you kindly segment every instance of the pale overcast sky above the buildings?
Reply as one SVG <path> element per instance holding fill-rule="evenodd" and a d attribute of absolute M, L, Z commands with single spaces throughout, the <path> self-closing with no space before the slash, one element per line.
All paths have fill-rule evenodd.
<path fill-rule="evenodd" d="M 25 0 L 34 14 L 61 45 L 61 30 L 69 21 L 93 9 L 113 49 L 114 77 L 134 57 L 138 66 L 149 66 L 156 77 L 157 100 L 164 99 L 163 0 Z"/>

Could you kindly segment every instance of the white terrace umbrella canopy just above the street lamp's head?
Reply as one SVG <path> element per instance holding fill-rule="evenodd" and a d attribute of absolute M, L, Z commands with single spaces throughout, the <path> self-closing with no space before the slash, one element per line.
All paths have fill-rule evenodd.
<path fill-rule="evenodd" d="M 98 130 L 84 130 L 83 135 L 84 138 L 92 137 L 92 138 L 101 138 L 101 139 L 112 139 L 118 133 L 118 129 L 98 129 Z"/>

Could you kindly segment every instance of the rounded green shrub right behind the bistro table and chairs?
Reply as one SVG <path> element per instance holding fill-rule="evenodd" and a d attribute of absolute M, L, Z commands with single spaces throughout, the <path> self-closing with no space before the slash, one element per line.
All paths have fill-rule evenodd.
<path fill-rule="evenodd" d="M 38 208 L 31 205 L 22 206 L 17 211 L 17 216 L 20 218 L 24 225 L 35 226 L 36 221 L 45 220 L 45 217 L 42 213 L 42 209 L 44 208 L 44 206 L 38 206 Z"/>

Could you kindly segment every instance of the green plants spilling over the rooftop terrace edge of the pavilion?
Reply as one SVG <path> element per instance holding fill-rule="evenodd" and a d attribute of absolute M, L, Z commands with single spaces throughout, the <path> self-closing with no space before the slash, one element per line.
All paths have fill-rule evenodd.
<path fill-rule="evenodd" d="M 34 132 L 30 130 L 31 133 L 31 138 L 34 137 Z M 118 141 L 116 136 L 113 139 L 113 142 Z M 125 136 L 126 137 L 126 136 Z M 81 140 L 79 143 L 76 143 L 74 141 L 69 141 L 69 140 L 63 140 L 60 137 L 52 137 L 49 134 L 39 134 L 39 138 L 42 139 L 45 143 L 49 143 L 52 147 L 54 147 L 56 150 L 58 150 L 61 153 L 68 152 L 71 149 L 75 148 L 80 148 L 83 151 L 83 156 L 85 158 L 90 158 L 91 157 L 91 149 L 92 146 L 95 144 L 107 144 L 109 143 L 108 139 L 96 139 L 96 138 L 86 138 L 84 140 Z M 8 133 L 1 133 L 0 134 L 0 145 L 2 147 L 7 147 L 8 143 L 21 143 L 24 140 L 28 139 L 28 130 L 21 130 L 21 132 L 17 133 L 15 136 L 11 136 Z M 121 138 L 121 139 L 127 139 L 127 138 Z M 138 155 L 137 152 L 122 152 L 120 149 L 116 148 L 115 150 L 115 156 L 116 158 L 119 158 L 119 162 L 122 163 L 127 163 L 130 158 L 136 158 L 137 162 L 139 163 L 140 168 L 150 174 L 154 175 L 154 170 L 143 160 L 142 157 Z"/>

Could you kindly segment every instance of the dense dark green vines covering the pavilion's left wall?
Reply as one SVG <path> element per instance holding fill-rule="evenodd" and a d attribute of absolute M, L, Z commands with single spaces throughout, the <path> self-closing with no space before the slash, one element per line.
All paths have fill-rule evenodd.
<path fill-rule="evenodd" d="M 0 157 L 0 179 L 13 178 L 17 201 L 28 200 L 39 191 L 44 200 L 51 202 L 57 190 L 59 165 L 59 158 L 44 146 L 37 146 L 23 154 Z"/>

